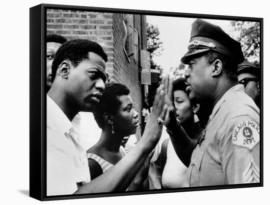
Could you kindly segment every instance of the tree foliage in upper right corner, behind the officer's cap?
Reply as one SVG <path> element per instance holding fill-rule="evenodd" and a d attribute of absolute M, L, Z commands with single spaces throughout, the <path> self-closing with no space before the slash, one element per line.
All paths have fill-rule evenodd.
<path fill-rule="evenodd" d="M 231 22 L 231 34 L 240 41 L 244 57 L 259 66 L 260 64 L 260 23 L 259 22 Z"/>

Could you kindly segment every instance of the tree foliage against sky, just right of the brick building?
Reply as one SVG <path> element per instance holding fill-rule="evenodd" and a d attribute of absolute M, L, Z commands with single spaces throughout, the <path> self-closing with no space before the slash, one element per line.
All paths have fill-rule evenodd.
<path fill-rule="evenodd" d="M 147 51 L 150 52 L 150 67 L 151 69 L 159 69 L 161 67 L 153 61 L 154 56 L 159 56 L 164 50 L 163 42 L 160 39 L 160 31 L 158 26 L 147 24 Z"/>

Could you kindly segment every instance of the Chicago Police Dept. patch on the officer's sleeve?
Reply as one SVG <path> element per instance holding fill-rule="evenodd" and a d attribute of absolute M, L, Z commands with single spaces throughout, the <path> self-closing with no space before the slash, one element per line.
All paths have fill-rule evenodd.
<path fill-rule="evenodd" d="M 233 129 L 233 145 L 252 150 L 260 142 L 260 125 L 243 121 Z"/>

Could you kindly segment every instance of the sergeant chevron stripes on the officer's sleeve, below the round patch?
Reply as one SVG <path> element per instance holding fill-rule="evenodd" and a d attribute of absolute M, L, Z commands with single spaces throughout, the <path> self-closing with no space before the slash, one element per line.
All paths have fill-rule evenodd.
<path fill-rule="evenodd" d="M 243 172 L 243 180 L 245 183 L 259 183 L 260 182 L 260 169 L 256 166 L 255 162 L 251 159 L 246 169 Z"/>

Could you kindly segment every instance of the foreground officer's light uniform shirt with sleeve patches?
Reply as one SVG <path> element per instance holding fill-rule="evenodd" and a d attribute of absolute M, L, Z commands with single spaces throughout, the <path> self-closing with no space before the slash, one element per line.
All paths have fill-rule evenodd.
<path fill-rule="evenodd" d="M 259 115 L 243 85 L 222 96 L 191 155 L 190 186 L 260 182 Z"/>

